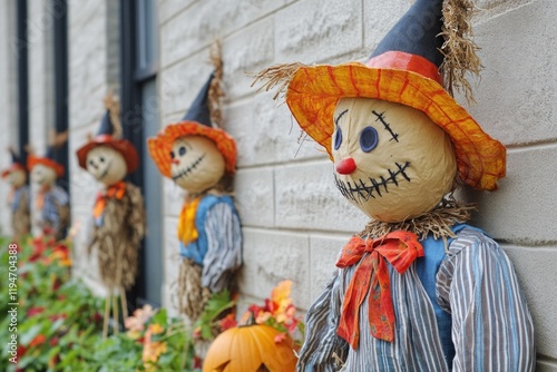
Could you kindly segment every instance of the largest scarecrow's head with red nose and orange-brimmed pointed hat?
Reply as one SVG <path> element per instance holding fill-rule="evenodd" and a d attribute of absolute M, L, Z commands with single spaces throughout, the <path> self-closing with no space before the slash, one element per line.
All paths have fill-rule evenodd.
<path fill-rule="evenodd" d="M 456 178 L 492 190 L 505 176 L 505 147 L 443 88 L 441 50 L 466 40 L 448 35 L 452 29 L 442 32 L 442 10 L 447 22 L 442 0 L 417 0 L 364 65 L 293 63 L 257 76 L 270 79 L 267 87 L 280 76 L 290 79 L 286 104 L 333 160 L 338 188 L 377 221 L 430 212 Z M 477 70 L 479 60 L 467 63 Z M 455 84 L 458 72 L 442 68 Z"/>

